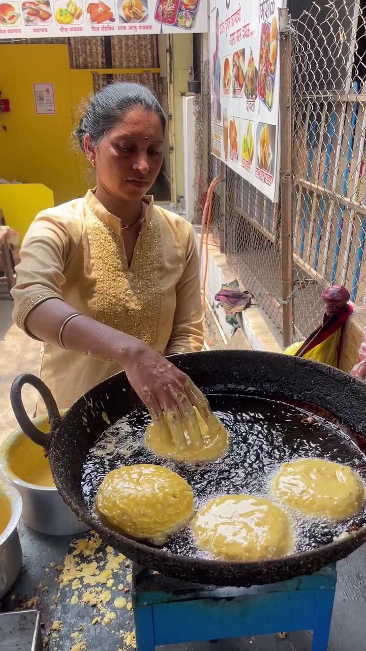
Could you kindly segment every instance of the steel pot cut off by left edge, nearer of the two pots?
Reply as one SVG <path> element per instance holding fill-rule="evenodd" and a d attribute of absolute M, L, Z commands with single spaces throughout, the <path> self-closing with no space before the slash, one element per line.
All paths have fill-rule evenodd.
<path fill-rule="evenodd" d="M 21 553 L 18 535 L 18 524 L 21 516 L 21 497 L 18 491 L 5 482 L 0 481 L 0 494 L 5 495 L 10 502 L 10 520 L 4 531 L 0 533 L 0 599 L 12 587 L 21 569 L 23 554 Z"/>

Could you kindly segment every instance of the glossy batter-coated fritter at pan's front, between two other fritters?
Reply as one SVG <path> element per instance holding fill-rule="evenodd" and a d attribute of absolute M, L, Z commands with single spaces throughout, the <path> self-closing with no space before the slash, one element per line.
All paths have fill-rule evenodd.
<path fill-rule="evenodd" d="M 294 534 L 285 512 L 251 495 L 215 497 L 193 519 L 197 545 L 227 561 L 261 561 L 290 553 Z"/>

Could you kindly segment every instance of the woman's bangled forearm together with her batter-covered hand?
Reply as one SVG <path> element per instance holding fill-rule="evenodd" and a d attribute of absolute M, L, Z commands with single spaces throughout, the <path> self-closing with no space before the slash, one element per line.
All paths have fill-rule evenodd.
<path fill-rule="evenodd" d="M 37 305 L 27 317 L 27 329 L 42 341 L 59 345 L 59 331 L 75 309 L 59 299 Z M 208 401 L 185 373 L 139 339 L 101 324 L 89 316 L 77 316 L 63 329 L 63 344 L 68 350 L 96 359 L 108 359 L 126 370 L 130 384 L 145 403 L 154 422 L 173 438 L 177 449 L 187 446 L 186 432 L 192 445 L 202 447 L 203 437 L 194 407 L 216 437 L 221 425 Z M 168 430 L 169 428 L 169 430 Z"/>

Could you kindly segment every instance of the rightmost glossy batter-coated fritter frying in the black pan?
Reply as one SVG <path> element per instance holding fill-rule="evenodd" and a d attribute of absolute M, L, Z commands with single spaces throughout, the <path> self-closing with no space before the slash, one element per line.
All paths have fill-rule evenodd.
<path fill-rule="evenodd" d="M 365 496 L 361 479 L 348 465 L 323 459 L 298 459 L 281 465 L 270 491 L 303 514 L 330 520 L 353 516 Z"/>

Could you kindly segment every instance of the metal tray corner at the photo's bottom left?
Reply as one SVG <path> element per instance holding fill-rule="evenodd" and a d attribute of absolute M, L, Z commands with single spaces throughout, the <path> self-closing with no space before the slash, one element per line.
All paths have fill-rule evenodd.
<path fill-rule="evenodd" d="M 0 613 L 0 651 L 42 651 L 40 613 Z"/>

